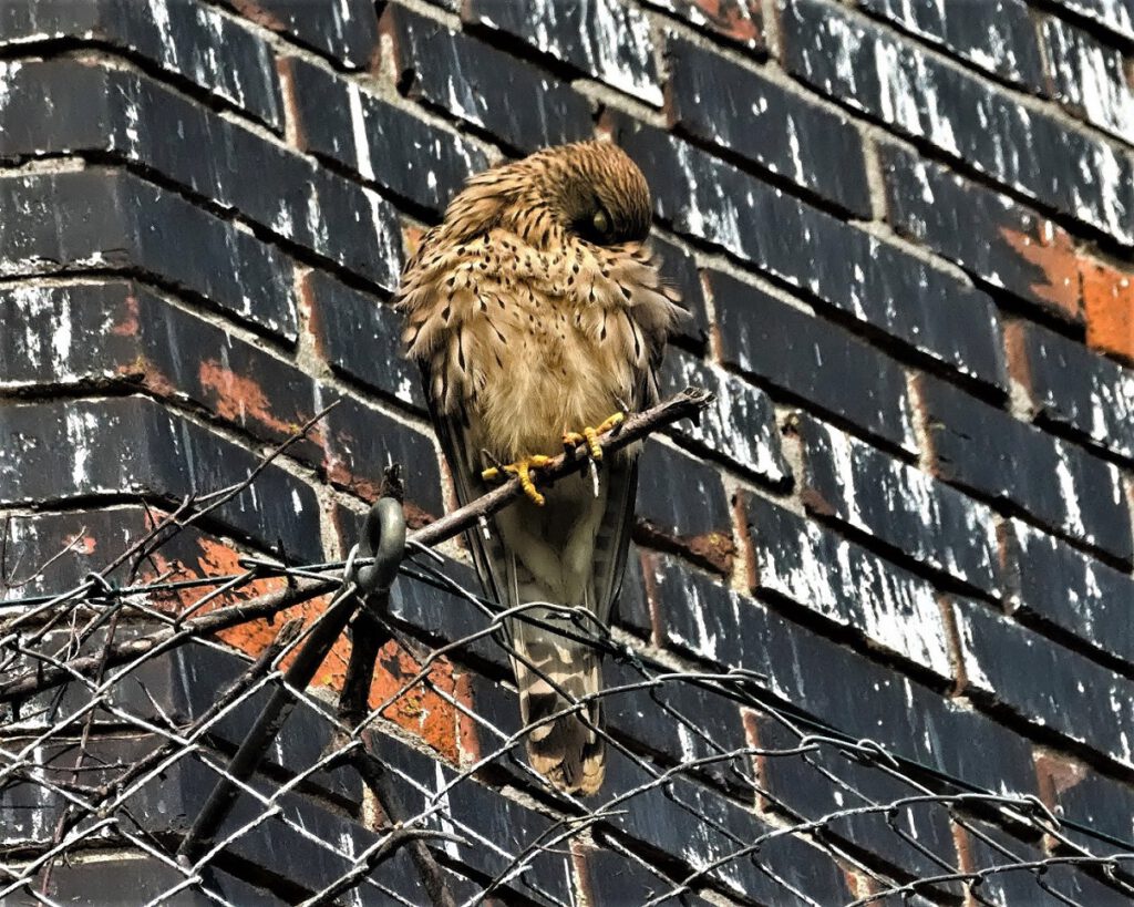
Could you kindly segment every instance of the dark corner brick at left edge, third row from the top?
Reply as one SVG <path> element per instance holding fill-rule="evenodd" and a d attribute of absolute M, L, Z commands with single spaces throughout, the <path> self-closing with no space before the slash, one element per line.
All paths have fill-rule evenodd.
<path fill-rule="evenodd" d="M 0 273 L 139 269 L 295 339 L 288 257 L 135 176 L 5 177 L 0 207 L 18 215 L 0 223 Z"/>

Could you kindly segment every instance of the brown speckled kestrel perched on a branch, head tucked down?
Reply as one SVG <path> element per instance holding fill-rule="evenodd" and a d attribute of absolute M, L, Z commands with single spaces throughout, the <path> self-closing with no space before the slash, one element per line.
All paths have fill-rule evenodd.
<path fill-rule="evenodd" d="M 637 450 L 608 456 L 596 490 L 582 471 L 542 492 L 532 477 L 583 438 L 601 457 L 596 433 L 623 408 L 657 401 L 657 368 L 684 310 L 644 245 L 649 229 L 650 189 L 625 152 L 608 142 L 544 149 L 471 178 L 396 296 L 460 503 L 501 471 L 524 481 L 526 497 L 469 544 L 486 594 L 517 609 L 506 626 L 528 761 L 585 795 L 606 770 L 600 658 L 581 611 L 564 609 L 608 619 Z"/>

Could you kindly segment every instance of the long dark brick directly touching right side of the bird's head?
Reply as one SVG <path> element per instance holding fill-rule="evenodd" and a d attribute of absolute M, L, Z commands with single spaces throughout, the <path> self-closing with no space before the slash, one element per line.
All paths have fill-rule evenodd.
<path fill-rule="evenodd" d="M 963 374 L 1007 388 L 991 300 L 896 246 L 660 129 L 613 121 L 654 212 Z"/>

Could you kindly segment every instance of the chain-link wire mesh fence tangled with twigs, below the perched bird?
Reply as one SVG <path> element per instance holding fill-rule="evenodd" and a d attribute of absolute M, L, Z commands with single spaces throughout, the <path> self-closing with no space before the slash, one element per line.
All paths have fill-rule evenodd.
<path fill-rule="evenodd" d="M 508 687 L 503 628 L 524 609 L 483 599 L 422 533 L 399 548 L 389 595 L 359 588 L 365 552 L 247 557 L 205 577 L 160 557 L 242 490 L 153 515 L 73 588 L 19 597 L 50 586 L 56 559 L 9 582 L 0 902 L 98 902 L 112 884 L 104 900 L 153 905 L 595 904 L 596 874 L 648 880 L 635 902 L 649 905 L 1134 896 L 1125 842 L 852 738 L 770 678 L 679 662 L 581 612 L 575 635 L 606 660 L 610 765 L 596 797 L 555 791 L 525 761 Z M 222 638 L 318 596 L 319 616 L 276 621 L 259 658 Z M 355 656 L 325 696 L 307 684 L 318 663 L 297 666 L 348 620 Z M 379 686 L 389 659 L 413 669 Z M 452 752 L 407 732 L 430 709 L 455 718 Z"/>

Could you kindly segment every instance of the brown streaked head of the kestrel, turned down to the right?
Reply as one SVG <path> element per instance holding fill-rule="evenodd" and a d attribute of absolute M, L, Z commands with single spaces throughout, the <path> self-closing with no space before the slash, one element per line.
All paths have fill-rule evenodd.
<path fill-rule="evenodd" d="M 600 246 L 641 243 L 650 232 L 650 187 L 617 145 L 577 142 L 473 177 L 446 223 L 463 236 L 500 227 L 536 246 L 572 237 Z"/>

